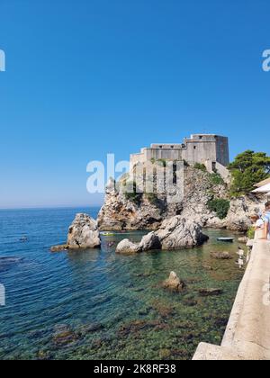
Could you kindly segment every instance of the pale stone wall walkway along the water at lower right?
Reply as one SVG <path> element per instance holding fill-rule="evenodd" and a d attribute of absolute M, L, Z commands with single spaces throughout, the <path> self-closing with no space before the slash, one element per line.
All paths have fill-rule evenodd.
<path fill-rule="evenodd" d="M 254 242 L 221 347 L 201 343 L 193 360 L 270 360 L 270 242 Z"/>

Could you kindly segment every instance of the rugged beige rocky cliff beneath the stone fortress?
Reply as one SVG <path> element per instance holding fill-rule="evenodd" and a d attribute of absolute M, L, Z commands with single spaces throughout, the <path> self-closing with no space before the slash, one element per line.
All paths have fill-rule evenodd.
<path fill-rule="evenodd" d="M 245 231 L 250 225 L 250 214 L 262 208 L 263 204 L 255 196 L 229 198 L 228 184 L 219 176 L 191 166 L 184 167 L 184 199 L 176 203 L 168 203 L 166 193 L 141 193 L 136 198 L 130 198 L 123 190 L 126 180 L 127 177 L 122 177 L 120 183 L 111 181 L 108 184 L 105 202 L 98 216 L 99 229 L 156 230 L 163 220 L 181 215 L 202 227 Z M 224 219 L 210 210 L 209 202 L 213 199 L 229 201 L 229 212 Z"/>

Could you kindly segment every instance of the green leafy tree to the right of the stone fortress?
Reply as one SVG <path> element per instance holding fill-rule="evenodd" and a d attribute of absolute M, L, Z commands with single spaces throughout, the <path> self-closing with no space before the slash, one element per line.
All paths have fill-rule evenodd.
<path fill-rule="evenodd" d="M 270 176 L 270 157 L 265 152 L 248 149 L 229 164 L 229 170 L 232 175 L 231 194 L 247 194 L 254 190 L 255 184 Z"/>

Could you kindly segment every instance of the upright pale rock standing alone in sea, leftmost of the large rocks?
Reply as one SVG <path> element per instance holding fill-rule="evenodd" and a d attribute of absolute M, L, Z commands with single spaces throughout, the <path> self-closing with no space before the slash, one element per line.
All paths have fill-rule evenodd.
<path fill-rule="evenodd" d="M 77 214 L 68 229 L 68 249 L 100 247 L 100 233 L 97 222 L 87 214 Z"/>

